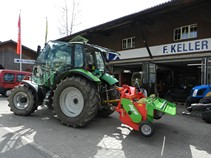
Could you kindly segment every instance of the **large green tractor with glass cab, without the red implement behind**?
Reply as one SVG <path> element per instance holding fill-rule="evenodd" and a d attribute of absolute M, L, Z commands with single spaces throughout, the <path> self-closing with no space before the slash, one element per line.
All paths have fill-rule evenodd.
<path fill-rule="evenodd" d="M 38 52 L 32 80 L 12 90 L 11 111 L 27 116 L 47 105 L 72 127 L 85 126 L 96 115 L 109 116 L 117 103 L 106 100 L 119 98 L 118 80 L 108 72 L 109 51 L 84 42 L 49 41 Z"/>

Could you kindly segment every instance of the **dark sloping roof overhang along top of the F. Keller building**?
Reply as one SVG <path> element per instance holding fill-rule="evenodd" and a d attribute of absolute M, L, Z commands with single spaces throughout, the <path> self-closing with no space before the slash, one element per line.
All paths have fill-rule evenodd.
<path fill-rule="evenodd" d="M 187 8 L 194 7 L 199 4 L 203 4 L 206 0 L 171 0 L 166 3 L 162 3 L 160 5 L 142 10 L 140 12 L 130 14 L 112 21 L 109 21 L 104 24 L 100 24 L 79 32 L 76 32 L 74 34 L 71 34 L 69 36 L 65 36 L 63 38 L 60 38 L 58 40 L 61 41 L 69 41 L 75 36 L 81 35 L 84 37 L 89 36 L 90 34 L 106 34 L 109 30 L 114 29 L 120 29 L 123 27 L 127 27 L 132 25 L 134 22 L 150 22 L 148 19 L 150 17 L 160 16 L 166 13 L 178 11 L 178 10 L 184 10 Z"/>

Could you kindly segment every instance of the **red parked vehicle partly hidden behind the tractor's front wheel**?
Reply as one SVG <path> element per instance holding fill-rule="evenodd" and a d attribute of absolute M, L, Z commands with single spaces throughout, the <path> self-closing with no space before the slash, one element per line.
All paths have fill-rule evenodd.
<path fill-rule="evenodd" d="M 11 89 L 17 86 L 23 79 L 28 80 L 31 72 L 2 69 L 0 70 L 0 94 L 9 96 Z"/>

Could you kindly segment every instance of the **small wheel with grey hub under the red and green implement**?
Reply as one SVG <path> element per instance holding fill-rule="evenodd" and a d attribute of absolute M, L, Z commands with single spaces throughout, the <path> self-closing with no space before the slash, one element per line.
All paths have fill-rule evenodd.
<path fill-rule="evenodd" d="M 150 137 L 154 134 L 154 126 L 149 121 L 143 121 L 139 125 L 139 131 L 145 137 Z"/>

